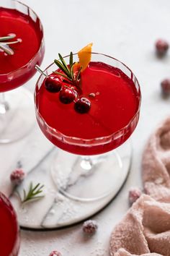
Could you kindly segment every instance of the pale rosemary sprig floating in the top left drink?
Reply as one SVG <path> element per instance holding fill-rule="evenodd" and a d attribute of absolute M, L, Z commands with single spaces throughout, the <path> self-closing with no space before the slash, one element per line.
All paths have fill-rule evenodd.
<path fill-rule="evenodd" d="M 19 43 L 19 40 L 14 40 L 8 42 L 8 40 L 12 40 L 16 37 L 16 35 L 6 35 L 4 37 L 0 38 L 0 48 L 2 51 L 4 51 L 6 54 L 13 55 L 14 51 L 9 45 L 12 45 L 14 43 Z"/>

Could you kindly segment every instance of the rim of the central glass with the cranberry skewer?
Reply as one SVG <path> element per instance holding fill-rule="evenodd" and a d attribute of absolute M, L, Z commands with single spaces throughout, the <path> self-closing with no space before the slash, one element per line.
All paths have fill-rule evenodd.
<path fill-rule="evenodd" d="M 77 55 L 77 54 L 78 54 L 78 53 L 73 54 L 73 55 Z M 121 63 L 123 66 L 125 66 L 125 67 L 131 72 L 131 74 L 133 74 L 134 77 L 135 77 L 135 74 L 132 72 L 132 70 L 131 70 L 128 66 L 126 66 L 122 61 L 119 61 L 118 59 L 115 59 L 114 57 L 109 56 L 109 55 L 107 55 L 107 54 L 101 54 L 101 53 L 98 53 L 98 52 L 91 52 L 91 54 L 96 54 L 96 55 L 105 56 L 105 57 L 107 57 L 107 58 L 109 58 L 109 59 L 114 59 L 115 61 L 118 61 L 118 62 Z M 69 56 L 70 56 L 70 55 L 63 56 L 63 59 L 68 58 Z M 47 69 L 49 69 L 50 67 L 52 67 L 53 64 L 55 64 L 55 63 L 53 62 L 53 63 L 51 63 L 50 65 L 48 65 L 48 67 L 46 67 L 46 68 L 43 70 L 43 72 L 45 72 Z M 37 80 L 37 82 L 36 82 L 35 88 L 36 88 L 36 86 L 37 86 L 37 84 L 38 84 L 38 82 L 40 81 L 40 78 L 41 78 L 42 76 L 43 76 L 43 74 L 40 74 L 40 77 L 38 77 L 38 80 Z M 53 127 L 50 127 L 50 125 L 45 121 L 45 119 L 41 116 L 41 114 L 40 114 L 39 111 L 37 110 L 37 106 L 36 106 L 36 104 L 35 104 L 36 116 L 37 116 L 37 114 L 38 114 L 38 116 L 40 116 L 40 119 L 43 120 L 43 122 L 45 123 L 45 125 L 46 125 L 47 127 L 50 127 L 50 129 L 52 129 L 53 132 L 58 133 L 58 135 L 60 135 L 60 137 L 66 138 L 66 140 L 75 140 L 75 141 L 83 141 L 83 142 L 86 142 L 87 145 L 84 144 L 84 146 L 89 146 L 89 144 L 90 144 L 91 142 L 94 142 L 94 141 L 96 141 L 96 140 L 97 140 L 97 141 L 100 141 L 100 140 L 108 140 L 108 141 L 105 142 L 105 143 L 102 142 L 102 144 L 106 144 L 106 143 L 109 142 L 109 140 L 112 141 L 112 137 L 115 137 L 117 134 L 119 134 L 119 133 L 123 132 L 124 130 L 128 129 L 128 127 L 130 127 L 130 124 L 133 122 L 133 120 L 136 118 L 136 116 L 138 116 L 138 114 L 140 113 L 140 105 L 141 105 L 140 84 L 139 84 L 138 79 L 137 79 L 136 77 L 135 77 L 135 80 L 136 80 L 136 82 L 138 83 L 138 93 L 139 93 L 138 108 L 137 108 L 135 114 L 133 115 L 133 117 L 132 117 L 132 118 L 130 119 L 130 121 L 128 122 L 128 124 L 126 124 L 126 125 L 125 125 L 124 127 L 122 127 L 121 129 L 119 129 L 119 130 L 117 130 L 117 131 L 115 131 L 115 132 L 112 132 L 112 134 L 110 134 L 110 135 L 102 136 L 102 137 L 94 137 L 94 138 L 92 138 L 92 139 L 84 139 L 84 138 L 81 138 L 81 137 L 73 137 L 73 136 L 64 135 L 62 132 L 58 131 L 57 129 L 55 129 L 55 128 L 53 128 Z M 36 92 L 35 92 L 35 93 L 36 93 Z M 120 137 L 121 137 L 121 135 L 120 135 Z M 58 139 L 58 140 L 59 140 L 59 139 Z M 66 143 L 68 143 L 68 141 L 66 141 Z M 73 143 L 71 143 L 71 142 L 70 142 L 69 144 L 73 145 Z M 90 145 L 92 145 L 92 144 L 90 144 Z"/>

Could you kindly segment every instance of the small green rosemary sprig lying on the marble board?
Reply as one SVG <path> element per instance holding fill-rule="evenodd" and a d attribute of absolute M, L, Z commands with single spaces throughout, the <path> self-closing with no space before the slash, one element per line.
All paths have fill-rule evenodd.
<path fill-rule="evenodd" d="M 21 197 L 21 195 L 19 194 L 18 191 L 17 191 L 17 194 L 19 195 L 19 198 L 22 203 L 32 201 L 32 200 L 38 200 L 38 199 L 44 197 L 44 195 L 40 195 L 42 193 L 43 187 L 44 187 L 44 185 L 41 185 L 40 183 L 37 183 L 35 186 L 33 186 L 32 182 L 31 182 L 30 188 L 27 192 L 25 191 L 25 189 L 23 189 L 23 193 L 24 193 L 23 198 Z"/>

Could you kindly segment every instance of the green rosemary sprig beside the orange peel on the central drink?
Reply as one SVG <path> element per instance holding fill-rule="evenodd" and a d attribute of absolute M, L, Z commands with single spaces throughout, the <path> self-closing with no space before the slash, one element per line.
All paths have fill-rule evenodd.
<path fill-rule="evenodd" d="M 70 53 L 69 66 L 66 64 L 66 61 L 63 59 L 61 54 L 58 54 L 58 56 L 60 60 L 55 59 L 54 62 L 63 73 L 57 71 L 55 71 L 54 73 L 64 77 L 65 79 L 63 80 L 63 82 L 76 86 L 79 85 L 82 67 L 80 67 L 79 72 L 77 72 L 77 74 L 74 74 L 73 66 L 76 64 L 76 62 L 73 62 L 73 53 Z"/>

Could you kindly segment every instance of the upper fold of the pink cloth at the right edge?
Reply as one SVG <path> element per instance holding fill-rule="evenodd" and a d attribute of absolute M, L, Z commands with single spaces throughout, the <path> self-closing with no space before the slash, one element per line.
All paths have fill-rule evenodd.
<path fill-rule="evenodd" d="M 148 140 L 142 170 L 146 194 L 160 202 L 170 203 L 170 118 Z"/>

